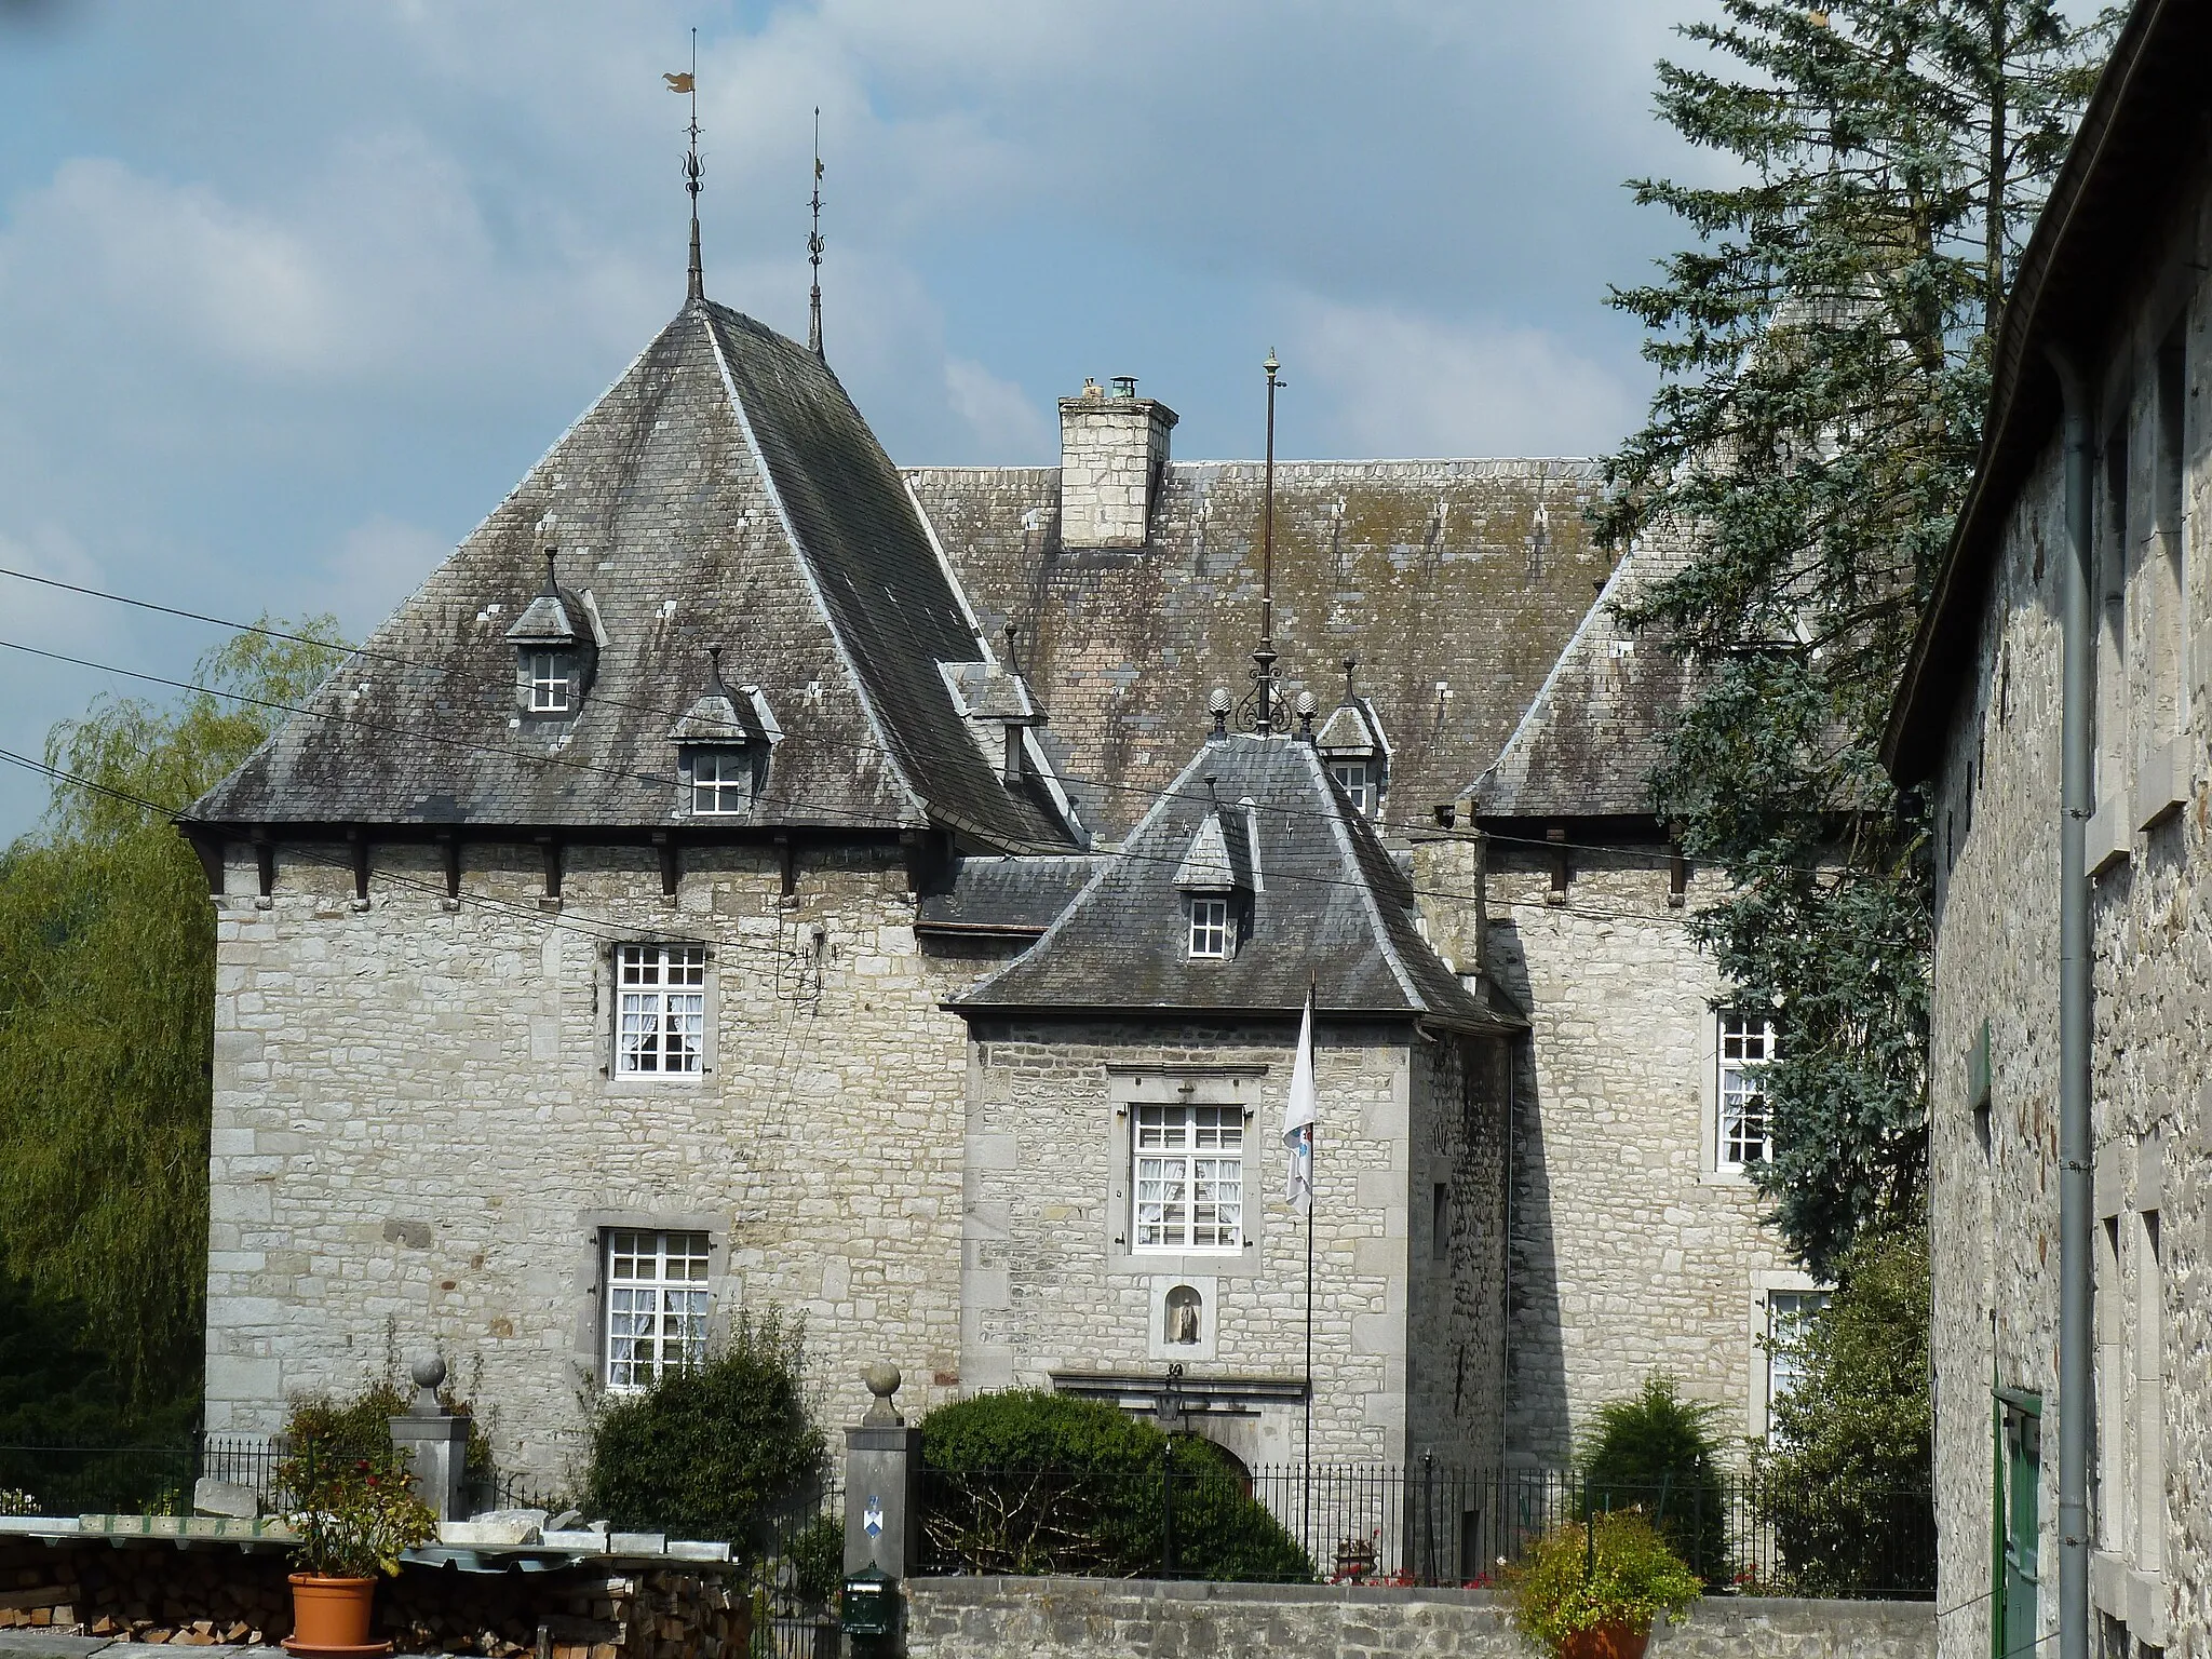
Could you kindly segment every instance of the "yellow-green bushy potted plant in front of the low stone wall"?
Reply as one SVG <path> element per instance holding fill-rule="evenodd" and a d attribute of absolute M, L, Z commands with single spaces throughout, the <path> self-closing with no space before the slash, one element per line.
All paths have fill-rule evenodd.
<path fill-rule="evenodd" d="M 1506 1573 L 1513 1624 L 1557 1659 L 1641 1659 L 1652 1619 L 1690 1617 L 1697 1575 L 1639 1513 L 1562 1522 Z"/>

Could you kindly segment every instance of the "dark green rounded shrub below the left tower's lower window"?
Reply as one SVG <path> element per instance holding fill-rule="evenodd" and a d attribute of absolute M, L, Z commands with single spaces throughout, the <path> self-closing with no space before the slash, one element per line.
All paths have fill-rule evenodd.
<path fill-rule="evenodd" d="M 821 1473 L 827 1442 L 807 1416 L 805 1323 L 739 1314 L 703 1365 L 644 1394 L 599 1398 L 582 1506 L 622 1531 L 666 1531 L 761 1548 L 765 1511 Z"/>

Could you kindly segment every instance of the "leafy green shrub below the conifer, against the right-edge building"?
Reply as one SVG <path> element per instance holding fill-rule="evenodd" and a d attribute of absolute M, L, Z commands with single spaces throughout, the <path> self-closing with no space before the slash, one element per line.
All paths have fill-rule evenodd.
<path fill-rule="evenodd" d="M 1863 1237 L 1834 1301 L 1776 1345 L 1796 1383 L 1754 1453 L 1783 1559 L 1809 1590 L 1933 1586 L 1927 1228 Z"/>

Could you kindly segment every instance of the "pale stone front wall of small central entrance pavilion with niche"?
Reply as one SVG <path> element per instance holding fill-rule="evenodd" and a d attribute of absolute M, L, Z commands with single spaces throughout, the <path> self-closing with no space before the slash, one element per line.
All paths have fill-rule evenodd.
<path fill-rule="evenodd" d="M 1057 1369 L 1298 1380 L 1305 1223 L 1283 1201 L 1290 1022 L 1157 1026 L 980 1020 L 969 1062 L 962 1380 L 1048 1387 Z M 1314 1458 L 1407 1455 L 1407 1044 L 1316 1029 Z M 1190 1086 L 1190 1095 L 1183 1095 Z M 1128 1124 L 1139 1102 L 1237 1104 L 1245 1237 L 1230 1254 L 1133 1252 Z M 1206 1298 L 1197 1349 L 1161 1340 L 1161 1301 Z M 1194 1422 L 1245 1464 L 1303 1453 L 1298 1405 Z"/>

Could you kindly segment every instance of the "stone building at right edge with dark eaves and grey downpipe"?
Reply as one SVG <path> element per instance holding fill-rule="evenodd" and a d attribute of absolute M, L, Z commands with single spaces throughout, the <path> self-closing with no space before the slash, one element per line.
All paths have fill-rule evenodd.
<path fill-rule="evenodd" d="M 1936 812 L 1931 1239 L 1949 1655 L 2026 1652 L 2059 1635 L 2068 1425 L 2086 1431 L 2088 1650 L 2212 1644 L 2205 62 L 2203 7 L 2135 7 L 2022 257 L 1975 493 L 1889 730 L 1898 779 L 1924 783 Z M 2075 719 L 2088 765 L 2075 823 L 2086 849 L 2073 898 L 2086 907 L 2090 975 L 2073 1082 L 2068 566 L 2084 599 Z M 2062 1144 L 2075 1082 L 2088 1099 L 2081 1155 Z M 2059 1194 L 2077 1157 L 2086 1396 L 2068 1391 L 2059 1354 Z"/>

